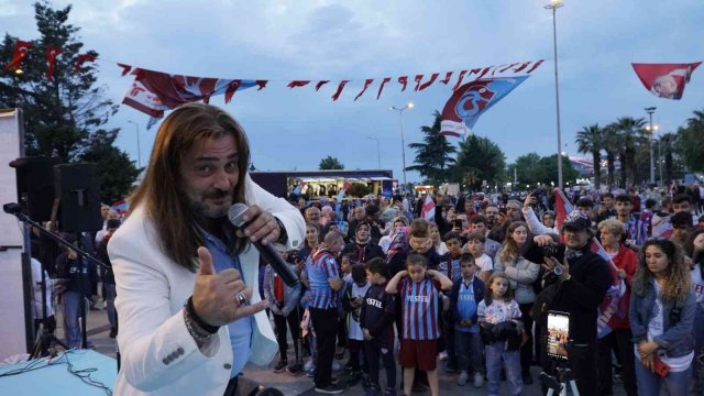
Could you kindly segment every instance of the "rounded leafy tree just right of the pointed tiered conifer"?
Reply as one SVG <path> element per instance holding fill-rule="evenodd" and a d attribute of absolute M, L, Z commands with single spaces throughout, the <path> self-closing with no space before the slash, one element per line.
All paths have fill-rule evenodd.
<path fill-rule="evenodd" d="M 506 155 L 488 138 L 471 135 L 460 143 L 455 165 L 448 173 L 448 180 L 468 185 L 479 190 L 482 182 L 498 185 L 506 178 Z"/>

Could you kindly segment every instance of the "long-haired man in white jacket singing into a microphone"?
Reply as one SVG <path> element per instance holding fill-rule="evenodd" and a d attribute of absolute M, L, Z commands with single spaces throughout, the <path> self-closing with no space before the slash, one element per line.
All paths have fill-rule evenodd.
<path fill-rule="evenodd" d="M 122 352 L 116 394 L 234 395 L 248 360 L 267 364 L 276 354 L 251 243 L 292 250 L 305 226 L 252 182 L 249 162 L 244 130 L 216 107 L 184 105 L 160 127 L 108 245 Z M 241 229 L 227 217 L 235 202 L 249 206 Z"/>

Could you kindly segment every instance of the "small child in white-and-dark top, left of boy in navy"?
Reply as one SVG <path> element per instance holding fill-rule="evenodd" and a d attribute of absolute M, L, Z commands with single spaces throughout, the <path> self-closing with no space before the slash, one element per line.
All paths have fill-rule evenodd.
<path fill-rule="evenodd" d="M 366 295 L 366 290 L 370 289 L 364 265 L 354 264 L 351 270 L 351 275 L 353 282 L 345 287 L 342 297 L 342 306 L 348 314 L 346 330 L 350 362 L 345 369 L 351 372 L 348 378 L 348 385 L 350 386 L 356 384 L 360 378 L 362 378 L 362 372 L 364 372 L 365 377 L 369 377 L 366 356 L 364 356 L 364 361 L 361 364 L 362 372 L 360 371 L 360 351 L 362 351 L 364 341 L 364 334 L 360 327 L 360 312 L 364 304 L 364 295 Z"/>

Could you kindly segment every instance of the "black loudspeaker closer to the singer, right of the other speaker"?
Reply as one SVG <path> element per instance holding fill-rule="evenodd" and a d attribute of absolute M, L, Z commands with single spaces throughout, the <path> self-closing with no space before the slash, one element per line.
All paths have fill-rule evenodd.
<path fill-rule="evenodd" d="M 97 231 L 102 228 L 96 164 L 54 166 L 59 229 L 64 232 Z"/>

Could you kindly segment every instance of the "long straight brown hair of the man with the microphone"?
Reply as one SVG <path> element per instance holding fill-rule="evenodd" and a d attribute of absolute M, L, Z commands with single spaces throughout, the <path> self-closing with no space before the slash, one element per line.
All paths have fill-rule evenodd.
<path fill-rule="evenodd" d="M 131 209 L 144 206 L 146 216 L 154 222 L 164 254 L 191 272 L 197 270 L 196 251 L 204 244 L 204 238 L 180 187 L 182 161 L 202 140 L 228 134 L 234 136 L 239 156 L 233 202 L 244 202 L 250 162 L 244 129 L 223 110 L 204 103 L 180 106 L 164 120 L 156 133 L 144 180 L 130 198 Z M 239 253 L 245 245 L 245 239 L 234 238 L 228 242 L 228 250 Z"/>

